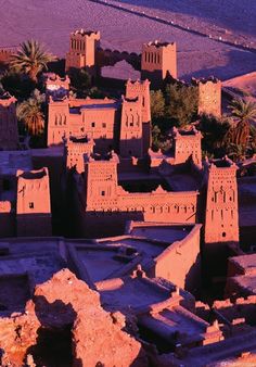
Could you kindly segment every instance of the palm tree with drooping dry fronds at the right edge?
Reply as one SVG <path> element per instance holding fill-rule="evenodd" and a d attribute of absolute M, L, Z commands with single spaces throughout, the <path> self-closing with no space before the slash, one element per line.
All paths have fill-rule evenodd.
<path fill-rule="evenodd" d="M 238 124 L 231 127 L 227 138 L 230 143 L 246 147 L 249 138 L 249 122 L 256 118 L 256 103 L 239 98 L 232 101 L 229 109 L 238 119 Z"/>

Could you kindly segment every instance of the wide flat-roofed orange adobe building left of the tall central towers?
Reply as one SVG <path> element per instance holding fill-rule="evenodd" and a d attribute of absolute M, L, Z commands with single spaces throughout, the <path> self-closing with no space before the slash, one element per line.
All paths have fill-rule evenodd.
<path fill-rule="evenodd" d="M 50 97 L 48 147 L 63 144 L 63 138 L 87 135 L 98 150 L 107 151 L 115 144 L 119 121 L 119 102 L 105 98 L 54 100 Z"/>

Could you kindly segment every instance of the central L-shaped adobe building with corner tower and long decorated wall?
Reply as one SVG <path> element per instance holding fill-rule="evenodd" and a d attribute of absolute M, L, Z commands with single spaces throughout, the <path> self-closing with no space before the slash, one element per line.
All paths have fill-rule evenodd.
<path fill-rule="evenodd" d="M 118 185 L 118 156 L 86 157 L 85 174 L 74 176 L 77 223 L 82 236 L 124 231 L 129 219 L 192 224 L 196 222 L 199 191 L 171 192 L 161 186 L 151 192 L 128 192 Z M 132 175 L 132 174 L 131 174 Z"/>

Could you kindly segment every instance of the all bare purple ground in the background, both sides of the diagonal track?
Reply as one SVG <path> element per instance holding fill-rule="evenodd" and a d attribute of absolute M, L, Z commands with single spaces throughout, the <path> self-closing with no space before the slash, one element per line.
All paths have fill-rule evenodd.
<path fill-rule="evenodd" d="M 203 29 L 215 26 L 217 31 L 227 28 L 247 37 L 248 42 L 255 41 L 254 0 L 125 0 L 125 3 L 129 7 L 140 4 L 140 9 L 153 14 L 164 13 L 170 17 L 175 14 L 184 24 L 190 23 L 191 27 Z M 35 38 L 44 42 L 53 53 L 64 56 L 69 33 L 82 27 L 99 29 L 102 47 L 111 49 L 140 52 L 145 41 L 176 41 L 178 74 L 182 79 L 189 79 L 192 75 L 215 75 L 225 80 L 256 69 L 256 53 L 89 0 L 0 0 L 0 47 L 17 46 L 21 41 Z M 104 74 L 121 77 L 124 72 L 126 77 L 138 77 L 125 64 L 117 64 Z"/>

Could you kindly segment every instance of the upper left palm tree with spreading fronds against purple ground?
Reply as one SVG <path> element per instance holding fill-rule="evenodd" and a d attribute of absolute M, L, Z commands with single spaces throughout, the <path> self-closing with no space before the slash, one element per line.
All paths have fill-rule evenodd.
<path fill-rule="evenodd" d="M 37 83 L 38 73 L 47 69 L 47 64 L 55 58 L 47 52 L 36 40 L 21 43 L 20 49 L 12 55 L 10 66 L 16 72 L 27 74 L 31 80 Z"/>

